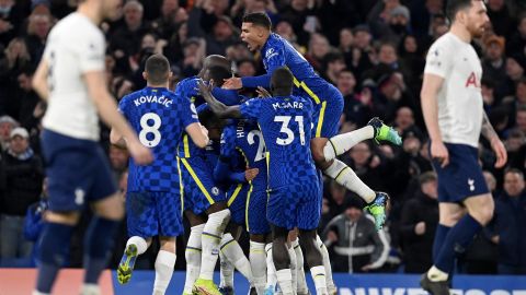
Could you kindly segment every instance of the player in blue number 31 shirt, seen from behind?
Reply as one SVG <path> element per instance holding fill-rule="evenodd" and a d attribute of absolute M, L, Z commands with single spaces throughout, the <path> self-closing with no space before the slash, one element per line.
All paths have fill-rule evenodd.
<path fill-rule="evenodd" d="M 318 294 L 327 294 L 325 270 L 316 245 L 316 228 L 320 220 L 321 196 L 318 174 L 309 149 L 312 103 L 293 96 L 293 74 L 286 68 L 272 74 L 274 97 L 252 98 L 241 106 L 227 107 L 199 83 L 209 107 L 219 117 L 256 120 L 266 145 L 268 167 L 268 202 L 266 217 L 272 224 L 273 259 L 283 294 L 294 294 L 288 232 L 299 228 L 307 262 L 311 268 Z"/>

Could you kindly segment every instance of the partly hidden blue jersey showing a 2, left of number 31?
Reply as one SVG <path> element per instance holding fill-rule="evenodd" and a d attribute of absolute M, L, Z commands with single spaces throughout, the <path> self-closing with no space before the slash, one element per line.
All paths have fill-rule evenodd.
<path fill-rule="evenodd" d="M 267 185 L 266 149 L 263 134 L 255 121 L 237 120 L 222 130 L 221 156 L 235 160 L 237 152 L 242 154 L 250 168 L 260 170 L 252 180 L 253 190 L 265 190 Z"/>

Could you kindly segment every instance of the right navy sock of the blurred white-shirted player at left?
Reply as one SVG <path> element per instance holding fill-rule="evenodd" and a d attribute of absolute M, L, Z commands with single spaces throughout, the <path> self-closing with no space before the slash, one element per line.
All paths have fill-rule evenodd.
<path fill-rule="evenodd" d="M 106 268 L 119 223 L 93 216 L 84 237 L 84 283 L 98 284 L 101 272 Z"/>

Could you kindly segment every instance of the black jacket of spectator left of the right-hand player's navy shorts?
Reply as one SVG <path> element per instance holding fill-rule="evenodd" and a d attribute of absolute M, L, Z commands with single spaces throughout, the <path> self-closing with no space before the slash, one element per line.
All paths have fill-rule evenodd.
<path fill-rule="evenodd" d="M 438 225 L 438 201 L 423 192 L 410 199 L 402 209 L 400 235 L 404 252 L 405 272 L 423 273 L 433 264 L 433 239 Z M 414 227 L 425 223 L 425 233 L 416 235 Z"/>

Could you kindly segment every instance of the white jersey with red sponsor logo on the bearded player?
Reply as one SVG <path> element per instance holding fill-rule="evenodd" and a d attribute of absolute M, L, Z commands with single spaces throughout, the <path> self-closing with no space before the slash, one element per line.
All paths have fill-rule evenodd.
<path fill-rule="evenodd" d="M 482 127 L 482 67 L 473 47 L 451 33 L 439 37 L 427 52 L 426 74 L 444 78 L 437 95 L 442 140 L 477 148 Z"/>

